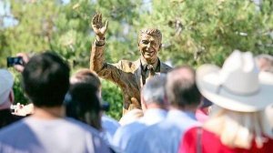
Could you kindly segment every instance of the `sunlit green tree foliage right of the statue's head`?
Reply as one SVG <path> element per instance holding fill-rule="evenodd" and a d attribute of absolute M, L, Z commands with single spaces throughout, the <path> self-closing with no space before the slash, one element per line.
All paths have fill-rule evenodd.
<path fill-rule="evenodd" d="M 175 65 L 221 65 L 235 49 L 273 53 L 273 3 L 242 0 L 153 1 L 138 22 L 164 35 L 162 56 Z"/>

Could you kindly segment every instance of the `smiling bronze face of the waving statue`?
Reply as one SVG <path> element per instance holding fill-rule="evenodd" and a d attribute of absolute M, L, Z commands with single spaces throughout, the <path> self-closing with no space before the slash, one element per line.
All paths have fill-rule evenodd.
<path fill-rule="evenodd" d="M 157 40 L 157 37 L 149 36 L 147 34 L 142 35 L 138 43 L 141 56 L 147 60 L 157 58 L 157 53 L 159 52 L 160 46 L 161 44 Z"/>

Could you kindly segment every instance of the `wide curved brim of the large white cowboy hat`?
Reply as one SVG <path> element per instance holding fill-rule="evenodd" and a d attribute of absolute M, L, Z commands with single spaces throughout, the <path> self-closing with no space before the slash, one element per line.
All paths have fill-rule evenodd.
<path fill-rule="evenodd" d="M 249 95 L 239 95 L 221 87 L 219 80 L 220 68 L 214 65 L 204 65 L 197 69 L 197 87 L 204 97 L 219 107 L 239 112 L 255 112 L 273 103 L 273 84 L 259 78 L 259 90 Z M 251 84 L 251 82 L 249 82 Z"/>

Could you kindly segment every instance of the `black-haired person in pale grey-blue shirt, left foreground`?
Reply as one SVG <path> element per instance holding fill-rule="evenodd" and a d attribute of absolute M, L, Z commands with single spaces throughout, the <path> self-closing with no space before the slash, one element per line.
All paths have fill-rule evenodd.
<path fill-rule="evenodd" d="M 33 56 L 22 75 L 35 111 L 0 131 L 0 152 L 109 152 L 95 129 L 65 117 L 69 67 L 59 56 L 50 52 Z"/>

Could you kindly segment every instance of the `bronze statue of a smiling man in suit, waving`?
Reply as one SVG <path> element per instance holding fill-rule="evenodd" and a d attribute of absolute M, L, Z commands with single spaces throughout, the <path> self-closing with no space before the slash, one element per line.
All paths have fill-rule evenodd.
<path fill-rule="evenodd" d="M 134 108 L 141 108 L 140 90 L 147 77 L 167 73 L 171 69 L 161 62 L 157 56 L 161 48 L 162 35 L 158 29 L 142 29 L 138 35 L 138 49 L 141 56 L 134 62 L 120 60 L 116 64 L 105 61 L 106 25 L 102 24 L 102 15 L 96 14 L 92 19 L 92 27 L 96 33 L 96 41 L 92 46 L 90 69 L 100 77 L 113 81 L 123 92 L 123 114 Z"/>

